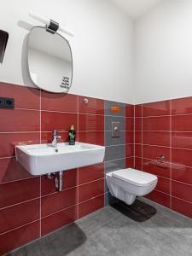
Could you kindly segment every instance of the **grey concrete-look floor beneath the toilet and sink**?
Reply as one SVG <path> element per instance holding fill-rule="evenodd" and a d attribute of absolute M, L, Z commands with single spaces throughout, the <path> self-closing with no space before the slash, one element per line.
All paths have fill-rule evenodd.
<path fill-rule="evenodd" d="M 105 207 L 8 255 L 192 255 L 192 219 L 152 201 L 137 202 L 132 209 Z"/>

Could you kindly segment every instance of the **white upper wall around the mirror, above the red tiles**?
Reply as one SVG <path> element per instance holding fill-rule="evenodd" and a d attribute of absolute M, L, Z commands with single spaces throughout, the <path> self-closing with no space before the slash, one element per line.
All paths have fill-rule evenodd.
<path fill-rule="evenodd" d="M 132 21 L 108 0 L 0 0 L 0 29 L 9 43 L 0 67 L 0 80 L 26 84 L 21 68 L 28 30 L 20 21 L 39 26 L 28 11 L 49 16 L 74 31 L 73 86 L 71 93 L 119 102 L 133 102 Z M 20 21 L 19 21 L 20 20 Z M 19 22 L 19 23 L 18 23 Z M 30 27 L 30 26 L 29 26 Z M 24 51 L 23 51 L 24 52 Z"/>

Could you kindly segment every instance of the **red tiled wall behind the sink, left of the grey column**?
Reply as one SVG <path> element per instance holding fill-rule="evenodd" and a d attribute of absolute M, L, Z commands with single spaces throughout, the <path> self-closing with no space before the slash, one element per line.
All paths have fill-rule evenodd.
<path fill-rule="evenodd" d="M 0 96 L 15 98 L 15 109 L 0 108 L 2 255 L 104 207 L 104 163 L 64 172 L 57 192 L 54 180 L 31 177 L 15 160 L 16 144 L 50 143 L 55 129 L 67 142 L 70 125 L 78 141 L 104 145 L 104 101 L 5 83 Z"/>

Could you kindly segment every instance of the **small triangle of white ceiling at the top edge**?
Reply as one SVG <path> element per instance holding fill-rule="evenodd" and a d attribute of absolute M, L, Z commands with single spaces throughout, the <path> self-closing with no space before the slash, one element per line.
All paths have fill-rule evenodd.
<path fill-rule="evenodd" d="M 111 0 L 132 19 L 137 19 L 162 0 Z"/>

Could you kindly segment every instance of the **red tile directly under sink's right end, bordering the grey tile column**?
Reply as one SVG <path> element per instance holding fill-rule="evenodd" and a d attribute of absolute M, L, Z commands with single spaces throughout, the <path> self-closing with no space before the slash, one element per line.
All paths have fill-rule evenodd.
<path fill-rule="evenodd" d="M 79 168 L 79 184 L 89 183 L 104 177 L 104 164 Z"/>

